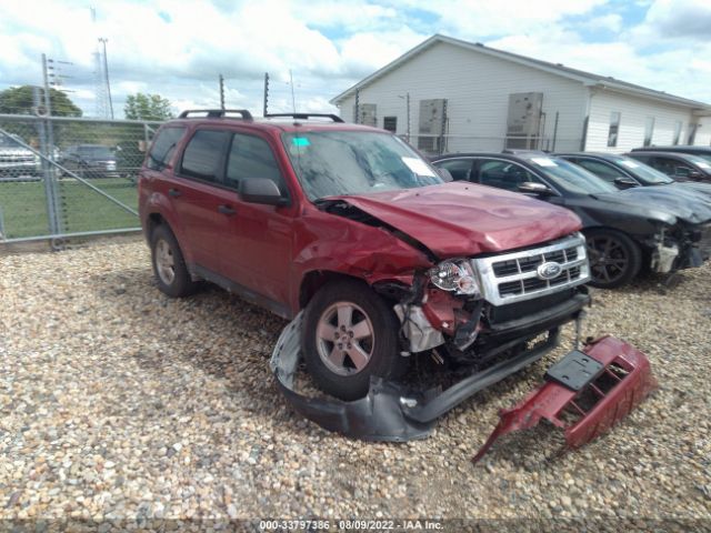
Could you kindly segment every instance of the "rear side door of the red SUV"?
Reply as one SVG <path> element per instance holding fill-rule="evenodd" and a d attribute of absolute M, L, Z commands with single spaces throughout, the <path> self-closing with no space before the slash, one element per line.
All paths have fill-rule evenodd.
<path fill-rule="evenodd" d="M 226 131 L 197 130 L 166 191 L 181 224 L 181 247 L 189 249 L 193 263 L 213 272 L 230 217 L 222 212 L 229 209 L 229 191 L 220 187 L 228 141 Z"/>

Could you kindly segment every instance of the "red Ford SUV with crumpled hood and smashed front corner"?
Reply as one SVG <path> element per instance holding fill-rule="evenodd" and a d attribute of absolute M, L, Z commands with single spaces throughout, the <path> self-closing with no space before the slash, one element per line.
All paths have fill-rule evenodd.
<path fill-rule="evenodd" d="M 160 290 L 207 280 L 303 310 L 307 369 L 344 400 L 419 353 L 515 359 L 501 379 L 589 302 L 570 211 L 447 182 L 398 137 L 334 115 L 186 111 L 156 135 L 139 191 Z"/>

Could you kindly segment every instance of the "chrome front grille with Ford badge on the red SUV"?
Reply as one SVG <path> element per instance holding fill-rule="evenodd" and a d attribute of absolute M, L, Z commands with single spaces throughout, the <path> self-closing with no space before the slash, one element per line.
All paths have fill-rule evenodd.
<path fill-rule="evenodd" d="M 590 279 L 585 240 L 580 234 L 540 248 L 471 261 L 481 278 L 484 299 L 494 305 L 552 294 Z M 552 279 L 540 275 L 538 270 L 543 263 L 558 263 L 560 273 Z"/>

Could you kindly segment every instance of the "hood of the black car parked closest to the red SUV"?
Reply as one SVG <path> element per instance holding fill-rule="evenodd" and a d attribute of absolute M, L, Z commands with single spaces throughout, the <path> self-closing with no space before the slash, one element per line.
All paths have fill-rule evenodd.
<path fill-rule="evenodd" d="M 673 184 L 635 187 L 609 194 L 595 194 L 595 198 L 629 209 L 642 210 L 649 218 L 665 214 L 690 224 L 711 220 L 711 199 Z"/>

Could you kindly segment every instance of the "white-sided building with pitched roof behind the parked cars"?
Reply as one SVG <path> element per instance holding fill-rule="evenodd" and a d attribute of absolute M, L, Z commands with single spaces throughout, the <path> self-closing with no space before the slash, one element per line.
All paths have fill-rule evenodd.
<path fill-rule="evenodd" d="M 711 144 L 710 104 L 443 36 L 331 103 L 429 153 Z"/>

